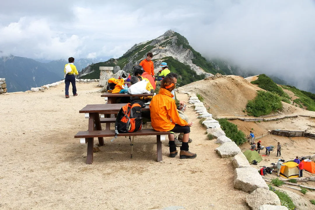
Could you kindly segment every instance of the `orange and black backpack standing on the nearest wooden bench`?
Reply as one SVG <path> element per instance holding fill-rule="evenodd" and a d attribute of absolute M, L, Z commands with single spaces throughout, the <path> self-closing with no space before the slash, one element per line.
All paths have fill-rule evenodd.
<path fill-rule="evenodd" d="M 142 129 L 141 108 L 146 105 L 141 101 L 133 101 L 132 104 L 124 105 L 117 114 L 115 133 L 128 133 Z M 115 138 L 117 138 L 115 136 Z"/>

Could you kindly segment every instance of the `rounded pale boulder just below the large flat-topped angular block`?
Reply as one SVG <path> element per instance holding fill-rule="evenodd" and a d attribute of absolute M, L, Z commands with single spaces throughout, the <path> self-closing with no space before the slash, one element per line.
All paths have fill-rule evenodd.
<path fill-rule="evenodd" d="M 257 188 L 252 193 L 246 196 L 245 202 L 253 209 L 258 210 L 260 206 L 269 204 L 280 206 L 281 202 L 276 193 L 264 188 Z"/>

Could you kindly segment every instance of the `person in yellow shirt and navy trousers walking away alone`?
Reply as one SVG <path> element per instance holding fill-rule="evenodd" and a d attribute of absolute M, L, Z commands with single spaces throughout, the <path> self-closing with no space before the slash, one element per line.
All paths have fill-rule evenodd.
<path fill-rule="evenodd" d="M 69 98 L 69 86 L 70 86 L 70 82 L 72 85 L 72 93 L 73 96 L 77 96 L 77 87 L 76 87 L 76 77 L 74 75 L 78 75 L 79 73 L 77 72 L 77 68 L 75 65 L 73 65 L 74 62 L 74 58 L 70 57 L 68 58 L 68 64 L 65 65 L 65 70 L 64 73 L 66 74 L 65 76 L 65 84 L 66 84 L 66 88 L 65 88 L 65 94 L 66 94 L 66 98 Z"/>

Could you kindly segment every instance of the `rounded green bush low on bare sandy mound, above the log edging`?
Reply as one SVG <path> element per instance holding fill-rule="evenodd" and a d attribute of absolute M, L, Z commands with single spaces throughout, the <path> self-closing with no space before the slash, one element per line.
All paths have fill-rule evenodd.
<path fill-rule="evenodd" d="M 258 90 L 255 99 L 249 100 L 246 105 L 248 115 L 255 117 L 268 115 L 281 109 L 282 103 L 280 96 L 263 90 Z"/>

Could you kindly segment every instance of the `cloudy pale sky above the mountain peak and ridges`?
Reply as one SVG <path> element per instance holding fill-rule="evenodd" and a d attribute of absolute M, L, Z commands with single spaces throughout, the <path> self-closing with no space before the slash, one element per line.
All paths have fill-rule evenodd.
<path fill-rule="evenodd" d="M 169 29 L 207 59 L 315 78 L 314 0 L 3 1 L 0 55 L 107 60 Z"/>

